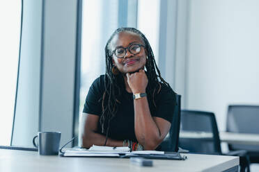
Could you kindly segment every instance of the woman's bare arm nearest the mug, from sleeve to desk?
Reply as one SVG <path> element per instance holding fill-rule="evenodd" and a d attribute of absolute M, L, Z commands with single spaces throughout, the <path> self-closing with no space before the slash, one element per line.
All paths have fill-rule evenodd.
<path fill-rule="evenodd" d="M 97 126 L 99 121 L 99 116 L 95 114 L 83 114 L 82 122 L 83 122 L 83 133 L 82 133 L 82 147 L 90 148 L 91 146 L 104 146 L 104 142 L 106 137 L 97 133 Z M 123 141 L 107 139 L 106 146 L 123 146 Z"/>

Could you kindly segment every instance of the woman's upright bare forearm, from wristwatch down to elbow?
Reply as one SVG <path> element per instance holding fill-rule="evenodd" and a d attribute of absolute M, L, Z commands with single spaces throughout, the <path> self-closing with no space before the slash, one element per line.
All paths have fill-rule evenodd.
<path fill-rule="evenodd" d="M 134 100 L 134 114 L 136 139 L 145 150 L 154 150 L 161 143 L 162 135 L 152 119 L 146 97 Z"/>

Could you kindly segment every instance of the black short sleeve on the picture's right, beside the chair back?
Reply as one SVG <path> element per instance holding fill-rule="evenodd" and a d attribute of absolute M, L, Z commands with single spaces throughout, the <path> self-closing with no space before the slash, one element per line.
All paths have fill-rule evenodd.
<path fill-rule="evenodd" d="M 173 112 L 176 105 L 176 94 L 171 87 L 162 84 L 162 89 L 157 94 L 157 110 L 155 117 L 166 119 L 170 123 L 173 120 Z"/>

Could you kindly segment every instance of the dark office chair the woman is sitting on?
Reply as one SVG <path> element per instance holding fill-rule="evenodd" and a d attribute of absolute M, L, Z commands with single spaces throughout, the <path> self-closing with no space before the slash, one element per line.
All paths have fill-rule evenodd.
<path fill-rule="evenodd" d="M 176 105 L 173 111 L 173 120 L 168 137 L 164 139 L 160 146 L 161 150 L 168 152 L 178 152 L 178 141 L 180 131 L 180 109 L 181 109 L 181 95 L 176 94 Z"/>

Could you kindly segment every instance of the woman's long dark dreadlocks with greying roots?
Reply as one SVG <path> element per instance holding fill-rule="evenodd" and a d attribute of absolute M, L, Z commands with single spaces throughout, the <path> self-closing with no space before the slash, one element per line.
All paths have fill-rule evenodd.
<path fill-rule="evenodd" d="M 164 83 L 166 86 L 170 87 L 168 83 L 162 78 L 160 71 L 155 62 L 155 57 L 152 52 L 151 46 L 146 39 L 145 35 L 136 28 L 118 28 L 113 32 L 105 46 L 105 62 L 106 62 L 106 74 L 104 76 L 104 94 L 100 101 L 102 100 L 102 115 L 100 117 L 100 124 L 102 126 L 102 133 L 106 134 L 106 139 L 104 146 L 107 143 L 110 121 L 115 117 L 116 112 L 118 111 L 118 103 L 120 101 L 118 98 L 121 95 L 121 90 L 123 87 L 119 84 L 119 81 L 123 79 L 121 74 L 114 75 L 111 71 L 113 67 L 112 61 L 112 50 L 111 50 L 111 40 L 115 35 L 121 32 L 134 33 L 141 37 L 141 40 L 144 43 L 147 61 L 146 61 L 146 75 L 148 77 L 148 85 L 146 88 L 146 93 L 148 94 L 148 100 L 151 102 L 154 107 L 155 104 L 155 95 L 159 94 L 161 89 L 161 83 Z M 124 82 L 123 82 L 124 83 Z"/>

